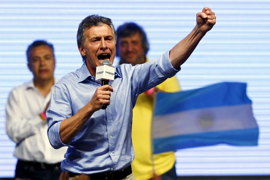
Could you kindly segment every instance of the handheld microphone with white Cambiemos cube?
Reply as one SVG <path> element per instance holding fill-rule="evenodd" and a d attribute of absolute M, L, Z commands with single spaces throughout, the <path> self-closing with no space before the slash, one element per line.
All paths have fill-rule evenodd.
<path fill-rule="evenodd" d="M 115 68 L 109 60 L 105 59 L 101 62 L 101 66 L 96 68 L 96 81 L 100 80 L 101 85 L 108 85 L 109 81 L 114 81 Z M 102 106 L 102 110 L 107 108 L 107 104 Z"/>

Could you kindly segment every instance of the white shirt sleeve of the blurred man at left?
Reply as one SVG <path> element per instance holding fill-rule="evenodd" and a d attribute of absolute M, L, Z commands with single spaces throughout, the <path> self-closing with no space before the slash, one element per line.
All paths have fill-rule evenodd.
<path fill-rule="evenodd" d="M 44 126 L 45 122 L 37 114 L 31 119 L 23 117 L 22 103 L 19 102 L 18 92 L 13 89 L 6 104 L 6 132 L 15 143 L 19 143 L 27 137 L 38 133 L 38 129 Z M 24 104 L 27 106 L 27 104 Z"/>

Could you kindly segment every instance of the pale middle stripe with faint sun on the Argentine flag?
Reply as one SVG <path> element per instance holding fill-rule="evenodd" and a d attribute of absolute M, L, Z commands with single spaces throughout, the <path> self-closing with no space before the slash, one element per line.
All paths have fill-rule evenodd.
<path fill-rule="evenodd" d="M 250 104 L 155 116 L 153 122 L 153 138 L 258 127 Z"/>

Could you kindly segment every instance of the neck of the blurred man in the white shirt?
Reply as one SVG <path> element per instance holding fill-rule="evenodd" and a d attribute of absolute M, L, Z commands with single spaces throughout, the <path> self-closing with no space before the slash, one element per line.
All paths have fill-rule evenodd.
<path fill-rule="evenodd" d="M 54 85 L 54 78 L 51 79 L 35 79 L 34 78 L 34 85 L 38 88 L 38 91 L 46 97 L 49 92 L 51 91 L 52 86 Z"/>

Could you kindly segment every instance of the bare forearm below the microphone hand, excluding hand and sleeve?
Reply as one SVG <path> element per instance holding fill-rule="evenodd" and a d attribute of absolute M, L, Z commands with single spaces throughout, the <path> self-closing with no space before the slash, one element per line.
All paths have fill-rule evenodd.
<path fill-rule="evenodd" d="M 69 143 L 79 133 L 83 125 L 93 115 L 89 104 L 85 105 L 74 116 L 64 119 L 60 124 L 59 136 L 63 144 Z"/>

